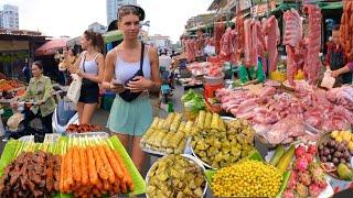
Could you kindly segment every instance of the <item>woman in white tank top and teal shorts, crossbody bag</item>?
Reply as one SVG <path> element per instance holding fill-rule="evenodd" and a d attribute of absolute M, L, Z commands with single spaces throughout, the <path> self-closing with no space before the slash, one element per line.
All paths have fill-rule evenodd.
<path fill-rule="evenodd" d="M 116 133 L 128 150 L 129 136 L 132 138 L 131 158 L 141 172 L 145 163 L 145 153 L 139 142 L 143 133 L 152 122 L 152 107 L 148 92 L 160 90 L 159 65 L 157 50 L 146 47 L 141 58 L 142 44 L 138 40 L 140 21 L 143 21 L 145 12 L 135 6 L 124 6 L 118 10 L 118 26 L 122 31 L 124 41 L 120 45 L 108 52 L 103 86 L 117 92 L 111 106 L 107 127 Z M 135 77 L 142 61 L 143 77 Z M 125 89 L 131 92 L 141 92 L 135 100 L 126 101 L 119 94 Z"/>

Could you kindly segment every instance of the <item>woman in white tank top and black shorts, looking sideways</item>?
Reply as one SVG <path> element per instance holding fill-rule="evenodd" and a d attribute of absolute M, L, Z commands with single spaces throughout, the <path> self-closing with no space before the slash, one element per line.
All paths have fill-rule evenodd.
<path fill-rule="evenodd" d="M 104 56 L 101 54 L 104 41 L 100 34 L 85 31 L 81 36 L 81 45 L 86 51 L 81 53 L 78 59 L 68 67 L 68 70 L 83 78 L 76 109 L 79 124 L 90 124 L 93 113 L 98 105 L 98 84 L 101 84 L 104 75 Z"/>

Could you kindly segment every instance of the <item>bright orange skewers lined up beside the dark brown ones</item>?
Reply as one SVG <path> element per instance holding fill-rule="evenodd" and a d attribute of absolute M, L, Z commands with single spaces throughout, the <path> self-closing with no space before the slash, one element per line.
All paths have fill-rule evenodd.
<path fill-rule="evenodd" d="M 127 194 L 133 190 L 130 174 L 109 141 L 69 139 L 62 156 L 60 191 L 75 197 Z"/>

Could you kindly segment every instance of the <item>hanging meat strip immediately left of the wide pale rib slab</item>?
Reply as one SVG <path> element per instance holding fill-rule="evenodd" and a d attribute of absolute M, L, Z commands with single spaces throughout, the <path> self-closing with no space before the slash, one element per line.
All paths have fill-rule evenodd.
<path fill-rule="evenodd" d="M 268 67 L 269 73 L 276 70 L 278 61 L 277 45 L 279 44 L 279 28 L 278 21 L 275 15 L 271 15 L 268 20 L 263 21 L 263 30 L 265 34 L 266 50 L 268 52 Z"/>

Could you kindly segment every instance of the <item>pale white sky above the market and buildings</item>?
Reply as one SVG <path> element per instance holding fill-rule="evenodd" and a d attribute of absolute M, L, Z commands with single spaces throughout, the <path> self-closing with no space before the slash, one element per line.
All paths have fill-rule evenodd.
<path fill-rule="evenodd" d="M 176 42 L 191 16 L 206 13 L 213 0 L 138 0 L 146 11 L 149 34 L 171 36 Z M 76 37 L 98 22 L 106 24 L 106 0 L 0 0 L 0 6 L 19 7 L 20 29 L 41 31 L 47 36 Z"/>

